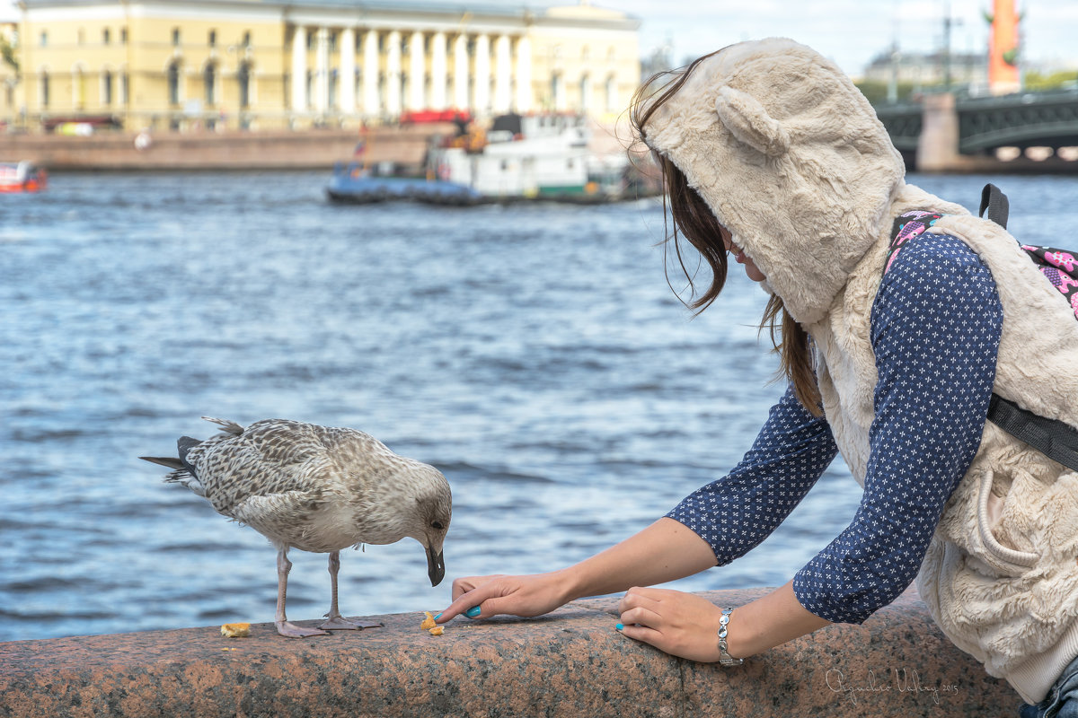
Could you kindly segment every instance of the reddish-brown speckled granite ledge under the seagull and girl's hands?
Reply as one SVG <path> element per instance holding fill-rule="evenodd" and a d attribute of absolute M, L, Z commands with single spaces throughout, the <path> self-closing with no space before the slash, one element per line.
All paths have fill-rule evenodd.
<path fill-rule="evenodd" d="M 766 589 L 703 593 L 736 606 Z M 740 668 L 674 659 L 617 631 L 617 600 L 536 619 L 373 617 L 362 632 L 249 638 L 219 627 L 0 643 L 0 716 L 991 716 L 1021 701 L 954 648 L 908 591 Z M 314 623 L 314 622 L 312 622 Z"/>

